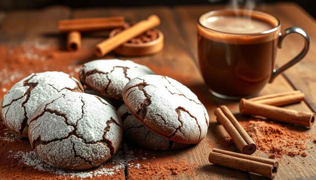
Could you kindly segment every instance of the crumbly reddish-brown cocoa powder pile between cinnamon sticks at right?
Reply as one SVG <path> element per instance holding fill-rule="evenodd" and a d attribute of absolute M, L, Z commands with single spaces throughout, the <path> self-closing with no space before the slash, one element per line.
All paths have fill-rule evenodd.
<path fill-rule="evenodd" d="M 282 158 L 283 155 L 291 157 L 307 156 L 306 141 L 313 138 L 308 132 L 293 129 L 292 126 L 276 124 L 272 121 L 252 119 L 240 121 L 253 141 L 256 142 L 259 151 L 265 152 L 269 158 Z"/>

